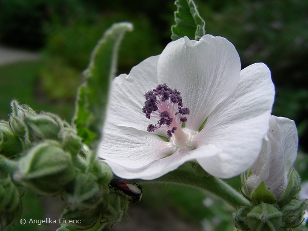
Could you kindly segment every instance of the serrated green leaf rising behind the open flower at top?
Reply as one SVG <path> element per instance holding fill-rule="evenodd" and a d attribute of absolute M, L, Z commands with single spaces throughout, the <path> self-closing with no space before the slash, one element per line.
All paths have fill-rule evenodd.
<path fill-rule="evenodd" d="M 197 6 L 192 0 L 177 0 L 175 12 L 176 25 L 171 27 L 173 41 L 187 36 L 190 40 L 199 40 L 205 35 L 205 21 L 199 15 Z"/>

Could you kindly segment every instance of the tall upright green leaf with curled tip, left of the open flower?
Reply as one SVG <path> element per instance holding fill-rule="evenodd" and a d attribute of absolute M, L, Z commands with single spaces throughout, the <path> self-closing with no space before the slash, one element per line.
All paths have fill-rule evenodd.
<path fill-rule="evenodd" d="M 84 71 L 85 82 L 79 88 L 73 123 L 83 142 L 91 147 L 95 147 L 102 136 L 108 90 L 115 77 L 118 49 L 125 32 L 131 30 L 131 23 L 113 24 L 94 48 Z"/>

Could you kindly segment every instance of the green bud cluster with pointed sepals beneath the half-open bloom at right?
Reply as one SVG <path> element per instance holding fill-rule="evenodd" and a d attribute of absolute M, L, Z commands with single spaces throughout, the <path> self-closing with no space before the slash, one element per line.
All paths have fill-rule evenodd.
<path fill-rule="evenodd" d="M 308 203 L 298 196 L 300 179 L 296 170 L 292 169 L 289 172 L 288 185 L 280 198 L 275 198 L 271 188 L 267 188 L 264 182 L 249 192 L 245 184 L 246 178 L 247 173 L 242 175 L 242 194 L 252 202 L 252 205 L 240 207 L 234 213 L 233 219 L 237 228 L 242 231 L 254 231 L 294 230 L 300 227 Z"/>

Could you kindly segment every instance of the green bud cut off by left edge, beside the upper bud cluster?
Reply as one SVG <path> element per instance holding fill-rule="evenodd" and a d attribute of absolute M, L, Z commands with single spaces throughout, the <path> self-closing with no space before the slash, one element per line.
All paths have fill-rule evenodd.
<path fill-rule="evenodd" d="M 21 140 L 15 136 L 10 125 L 6 121 L 0 121 L 0 153 L 11 157 L 23 149 Z"/>

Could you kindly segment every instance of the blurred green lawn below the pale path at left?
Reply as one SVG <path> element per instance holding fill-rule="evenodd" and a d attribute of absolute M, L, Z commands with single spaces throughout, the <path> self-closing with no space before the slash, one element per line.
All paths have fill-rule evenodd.
<path fill-rule="evenodd" d="M 42 68 L 41 61 L 20 62 L 0 66 L 0 118 L 8 120 L 10 102 L 13 99 L 31 105 L 35 110 L 57 113 L 70 121 L 74 105 L 65 101 L 51 102 L 36 86 L 38 72 Z"/>

